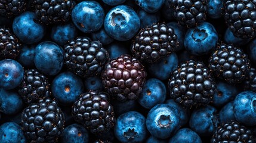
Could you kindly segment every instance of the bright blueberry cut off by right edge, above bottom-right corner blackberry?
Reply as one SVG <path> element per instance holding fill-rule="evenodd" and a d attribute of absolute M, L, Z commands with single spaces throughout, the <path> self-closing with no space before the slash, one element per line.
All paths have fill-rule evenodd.
<path fill-rule="evenodd" d="M 256 125 L 256 93 L 243 91 L 236 96 L 233 103 L 235 118 L 244 125 Z"/>

